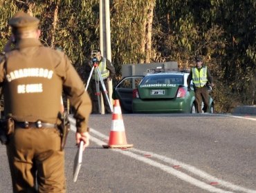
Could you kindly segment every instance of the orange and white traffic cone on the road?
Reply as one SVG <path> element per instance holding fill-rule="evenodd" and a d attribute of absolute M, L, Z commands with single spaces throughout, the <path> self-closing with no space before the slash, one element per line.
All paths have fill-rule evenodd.
<path fill-rule="evenodd" d="M 127 144 L 125 136 L 125 125 L 122 121 L 122 112 L 119 100 L 114 101 L 111 131 L 109 134 L 109 144 L 102 145 L 103 148 L 131 148 L 134 144 Z"/>

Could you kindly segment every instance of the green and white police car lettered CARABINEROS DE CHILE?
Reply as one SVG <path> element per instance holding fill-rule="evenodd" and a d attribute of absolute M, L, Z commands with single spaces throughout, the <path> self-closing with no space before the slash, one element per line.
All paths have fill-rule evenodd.
<path fill-rule="evenodd" d="M 188 92 L 188 72 L 155 72 L 147 74 L 133 90 L 134 113 L 195 113 L 194 90 Z M 193 88 L 193 86 L 191 86 Z M 214 112 L 210 97 L 209 112 Z"/>

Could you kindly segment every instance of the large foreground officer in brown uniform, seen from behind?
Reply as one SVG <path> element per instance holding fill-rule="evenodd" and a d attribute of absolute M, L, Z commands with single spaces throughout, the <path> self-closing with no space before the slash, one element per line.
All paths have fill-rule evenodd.
<path fill-rule="evenodd" d="M 7 145 L 13 192 L 66 192 L 61 150 L 62 90 L 74 108 L 76 143 L 89 145 L 91 100 L 84 83 L 63 52 L 39 41 L 39 19 L 18 12 L 9 21 L 15 41 L 0 62 L 4 114 L 14 120 Z"/>

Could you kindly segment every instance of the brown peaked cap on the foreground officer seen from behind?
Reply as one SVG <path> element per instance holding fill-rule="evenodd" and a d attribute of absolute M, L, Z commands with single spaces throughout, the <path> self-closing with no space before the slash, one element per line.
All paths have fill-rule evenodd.
<path fill-rule="evenodd" d="M 17 28 L 19 32 L 35 30 L 38 28 L 39 19 L 32 17 L 25 12 L 17 12 L 8 22 L 12 28 Z"/>

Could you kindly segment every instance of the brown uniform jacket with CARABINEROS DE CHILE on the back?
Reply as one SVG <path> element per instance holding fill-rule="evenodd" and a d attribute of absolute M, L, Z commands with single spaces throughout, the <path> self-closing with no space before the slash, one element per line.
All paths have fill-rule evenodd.
<path fill-rule="evenodd" d="M 91 100 L 63 52 L 37 39 L 21 39 L 0 62 L 4 112 L 16 121 L 57 123 L 62 88 L 71 100 L 77 132 L 86 131 Z"/>

